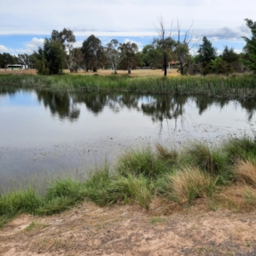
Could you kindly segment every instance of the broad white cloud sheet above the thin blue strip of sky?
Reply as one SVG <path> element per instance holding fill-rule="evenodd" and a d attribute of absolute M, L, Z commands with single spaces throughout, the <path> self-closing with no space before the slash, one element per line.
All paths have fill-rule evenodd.
<path fill-rule="evenodd" d="M 256 7 L 253 0 L 232 0 L 231 4 L 224 4 L 223 0 L 73 0 L 72 4 L 69 0 L 44 0 L 36 4 L 34 8 L 32 0 L 1 3 L 0 33 L 42 35 L 64 26 L 75 32 L 108 32 L 108 35 L 111 32 L 150 33 L 154 32 L 154 25 L 158 25 L 160 15 L 166 20 L 166 27 L 172 20 L 175 26 L 177 17 L 184 29 L 188 29 L 193 20 L 197 29 L 238 27 L 245 24 L 245 18 L 255 16 Z"/>

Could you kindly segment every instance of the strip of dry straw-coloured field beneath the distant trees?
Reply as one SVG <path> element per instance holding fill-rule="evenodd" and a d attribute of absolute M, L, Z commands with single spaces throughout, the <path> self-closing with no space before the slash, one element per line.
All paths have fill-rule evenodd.
<path fill-rule="evenodd" d="M 65 69 L 65 73 L 69 73 L 69 70 Z M 37 74 L 35 69 L 30 70 L 4 70 L 3 68 L 0 69 L 0 74 L 4 73 L 15 73 L 17 74 Z M 113 73 L 112 70 L 98 70 L 98 75 L 111 75 Z M 72 73 L 73 75 L 80 74 L 80 75 L 94 75 L 96 73 L 93 72 L 84 72 L 79 71 L 78 73 Z M 126 75 L 128 72 L 126 70 L 118 70 L 118 75 Z M 132 70 L 131 71 L 131 77 L 143 77 L 143 76 L 163 76 L 164 72 L 161 69 L 140 69 L 140 70 Z M 179 73 L 177 73 L 177 69 L 170 69 L 167 71 L 167 76 L 177 76 Z"/>

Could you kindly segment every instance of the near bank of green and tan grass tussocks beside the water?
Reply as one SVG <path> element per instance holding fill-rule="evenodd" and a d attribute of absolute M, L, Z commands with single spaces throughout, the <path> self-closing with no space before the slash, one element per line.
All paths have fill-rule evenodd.
<path fill-rule="evenodd" d="M 150 209 L 155 198 L 185 207 L 204 198 L 212 210 L 251 210 L 256 206 L 256 137 L 211 147 L 189 143 L 179 152 L 160 145 L 131 149 L 111 170 L 106 164 L 86 180 L 63 177 L 51 181 L 43 194 L 30 186 L 0 195 L 0 224 L 24 212 L 62 212 L 84 200 L 100 207 L 136 203 Z"/>

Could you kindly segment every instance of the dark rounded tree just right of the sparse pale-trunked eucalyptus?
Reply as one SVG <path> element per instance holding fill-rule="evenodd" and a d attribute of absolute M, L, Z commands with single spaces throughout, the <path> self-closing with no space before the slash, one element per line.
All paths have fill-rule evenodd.
<path fill-rule="evenodd" d="M 123 55 L 122 63 L 128 70 L 128 73 L 131 73 L 132 67 L 137 65 L 137 44 L 129 41 L 126 44 L 121 44 L 120 49 Z"/>

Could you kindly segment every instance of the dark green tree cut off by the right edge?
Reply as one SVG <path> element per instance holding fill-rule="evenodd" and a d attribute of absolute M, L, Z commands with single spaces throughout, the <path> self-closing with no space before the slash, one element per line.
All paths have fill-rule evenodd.
<path fill-rule="evenodd" d="M 245 19 L 247 22 L 247 27 L 251 30 L 251 38 L 243 37 L 246 41 L 245 51 L 247 52 L 247 59 L 243 60 L 243 63 L 247 67 L 256 73 L 256 21 Z"/>

